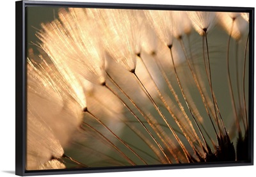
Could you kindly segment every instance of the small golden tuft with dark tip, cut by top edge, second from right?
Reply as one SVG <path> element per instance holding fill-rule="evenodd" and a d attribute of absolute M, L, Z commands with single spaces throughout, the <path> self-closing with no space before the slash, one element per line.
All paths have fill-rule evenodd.
<path fill-rule="evenodd" d="M 205 30 L 209 31 L 215 24 L 215 12 L 187 12 L 194 29 L 203 36 Z"/>

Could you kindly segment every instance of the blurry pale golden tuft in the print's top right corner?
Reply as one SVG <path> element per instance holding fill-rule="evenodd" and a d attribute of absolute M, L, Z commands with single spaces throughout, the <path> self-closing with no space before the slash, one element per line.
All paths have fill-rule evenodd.
<path fill-rule="evenodd" d="M 248 22 L 242 17 L 241 13 L 219 12 L 218 18 L 220 25 L 231 35 L 235 40 L 239 40 L 246 31 Z"/>

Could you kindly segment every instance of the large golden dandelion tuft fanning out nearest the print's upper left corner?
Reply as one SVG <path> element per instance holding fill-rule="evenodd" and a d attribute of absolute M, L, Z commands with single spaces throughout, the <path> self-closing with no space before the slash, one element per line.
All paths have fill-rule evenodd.
<path fill-rule="evenodd" d="M 38 33 L 42 48 L 52 59 L 65 62 L 73 72 L 102 84 L 106 73 L 97 23 L 87 17 L 84 9 L 68 10 L 61 10 L 60 21 L 42 25 L 43 30 Z"/>

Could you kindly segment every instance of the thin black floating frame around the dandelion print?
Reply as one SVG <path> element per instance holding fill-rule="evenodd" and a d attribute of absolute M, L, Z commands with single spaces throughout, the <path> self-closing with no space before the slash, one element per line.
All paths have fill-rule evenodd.
<path fill-rule="evenodd" d="M 83 7 L 83 8 L 122 8 L 139 10 L 193 10 L 209 12 L 247 12 L 250 14 L 249 31 L 249 100 L 248 100 L 248 125 L 249 146 L 248 160 L 244 162 L 205 162 L 200 164 L 168 164 L 168 165 L 136 165 L 124 167 L 92 167 L 90 169 L 54 169 L 54 170 L 26 170 L 26 115 L 27 115 L 27 54 L 26 54 L 26 7 L 52 6 L 52 7 Z M 19 176 L 33 176 L 46 174 L 78 174 L 78 173 L 105 173 L 119 171 L 147 171 L 161 169 L 186 169 L 201 167 L 228 167 L 238 165 L 253 165 L 253 95 L 254 95 L 254 24 L 255 10 L 250 7 L 223 7 L 223 6 L 177 6 L 156 4 L 112 4 L 112 3 L 76 3 L 76 2 L 51 2 L 51 1 L 17 1 L 16 2 L 16 132 L 15 132 L 15 174 Z"/>

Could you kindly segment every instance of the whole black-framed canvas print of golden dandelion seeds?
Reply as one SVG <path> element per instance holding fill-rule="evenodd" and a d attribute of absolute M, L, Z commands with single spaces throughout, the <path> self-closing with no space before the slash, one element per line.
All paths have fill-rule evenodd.
<path fill-rule="evenodd" d="M 16 2 L 16 174 L 253 165 L 254 8 Z"/>

